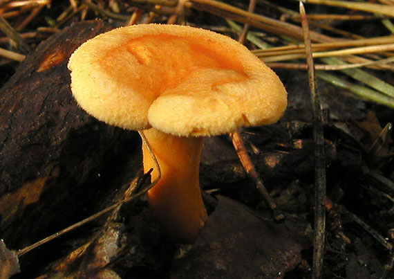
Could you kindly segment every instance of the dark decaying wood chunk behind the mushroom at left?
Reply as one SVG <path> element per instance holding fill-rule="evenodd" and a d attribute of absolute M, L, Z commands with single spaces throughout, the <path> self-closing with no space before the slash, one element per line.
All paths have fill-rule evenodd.
<path fill-rule="evenodd" d="M 68 57 L 111 27 L 85 21 L 39 44 L 0 91 L 0 236 L 21 249 L 95 211 L 104 167 L 138 138 L 100 123 L 70 91 Z M 135 146 L 135 147 L 133 147 Z M 83 208 L 81 208 L 83 206 Z"/>

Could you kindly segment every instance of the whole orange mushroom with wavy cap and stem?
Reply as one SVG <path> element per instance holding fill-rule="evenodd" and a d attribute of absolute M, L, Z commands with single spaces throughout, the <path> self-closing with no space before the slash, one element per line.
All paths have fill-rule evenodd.
<path fill-rule="evenodd" d="M 161 170 L 149 205 L 180 242 L 193 242 L 207 219 L 198 182 L 203 137 L 274 123 L 287 105 L 279 78 L 245 46 L 189 26 L 111 30 L 79 46 L 68 69 L 88 114 L 147 138 Z M 153 168 L 146 147 L 142 156 L 144 171 Z"/>

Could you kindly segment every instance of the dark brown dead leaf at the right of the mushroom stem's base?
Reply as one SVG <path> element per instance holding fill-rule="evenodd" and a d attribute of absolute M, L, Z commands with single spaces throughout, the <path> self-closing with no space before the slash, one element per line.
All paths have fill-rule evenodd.
<path fill-rule="evenodd" d="M 301 220 L 274 224 L 243 204 L 218 197 L 196 243 L 176 260 L 171 278 L 283 278 L 301 262 Z"/>

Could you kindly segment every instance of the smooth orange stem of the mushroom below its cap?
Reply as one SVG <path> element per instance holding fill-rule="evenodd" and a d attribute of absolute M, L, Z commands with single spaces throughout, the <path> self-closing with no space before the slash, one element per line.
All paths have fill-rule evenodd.
<path fill-rule="evenodd" d="M 173 136 L 155 128 L 144 130 L 144 135 L 161 170 L 161 179 L 148 191 L 149 205 L 171 237 L 194 242 L 207 219 L 198 180 L 204 138 Z M 144 172 L 153 168 L 156 179 L 158 172 L 144 145 L 142 155 Z"/>

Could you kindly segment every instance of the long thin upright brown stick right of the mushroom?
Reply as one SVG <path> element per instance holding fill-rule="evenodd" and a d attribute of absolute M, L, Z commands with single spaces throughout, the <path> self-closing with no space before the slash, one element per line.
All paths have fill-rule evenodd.
<path fill-rule="evenodd" d="M 323 115 L 320 97 L 317 91 L 315 68 L 310 46 L 308 19 L 303 3 L 299 1 L 299 11 L 303 28 L 303 40 L 306 46 L 306 63 L 313 111 L 313 138 L 315 141 L 315 233 L 313 249 L 312 278 L 321 278 L 323 273 L 324 233 L 326 231 L 326 208 L 323 199 L 326 197 L 326 158 L 324 152 Z"/>

